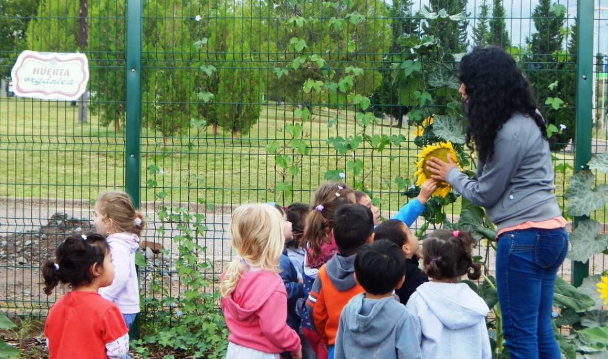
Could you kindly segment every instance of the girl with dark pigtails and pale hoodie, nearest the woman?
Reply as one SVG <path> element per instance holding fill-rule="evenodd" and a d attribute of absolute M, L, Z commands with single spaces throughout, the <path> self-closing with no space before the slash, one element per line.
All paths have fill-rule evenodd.
<path fill-rule="evenodd" d="M 432 282 L 421 284 L 406 310 L 420 323 L 418 342 L 423 358 L 492 358 L 486 328 L 489 308 L 463 275 L 479 279 L 474 263 L 475 239 L 465 231 L 438 230 L 423 242 L 423 264 Z"/>

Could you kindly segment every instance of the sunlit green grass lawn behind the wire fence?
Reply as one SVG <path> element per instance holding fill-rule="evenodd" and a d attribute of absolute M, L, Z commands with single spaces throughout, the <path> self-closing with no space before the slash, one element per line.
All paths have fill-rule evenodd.
<path fill-rule="evenodd" d="M 305 124 L 310 153 L 302 159 L 302 171 L 293 179 L 292 197 L 282 199 L 275 183 L 283 179 L 275 170 L 274 156 L 264 148 L 269 142 L 285 142 L 285 125 L 293 121 L 291 106 L 266 104 L 260 120 L 247 135 L 233 140 L 229 132 L 211 128 L 201 134 L 191 131 L 182 137 L 168 138 L 162 148 L 162 135 L 143 128 L 141 133 L 142 200 L 153 200 L 159 191 L 167 199 L 179 202 L 227 204 L 255 201 L 308 202 L 312 191 L 323 182 L 328 169 L 344 169 L 352 154 L 339 156 L 327 145 L 332 136 L 348 137 L 360 128 L 354 124 L 354 111 L 338 113 L 334 109 L 314 108 Z M 337 124 L 328 127 L 332 118 Z M 123 128 L 123 124 L 121 124 Z M 368 134 L 403 134 L 409 140 L 412 128 L 389 126 L 388 121 L 372 126 Z M 89 112 L 88 123 L 79 124 L 77 107 L 65 101 L 27 98 L 0 99 L 0 196 L 94 198 L 105 188 L 125 186 L 125 133 L 103 126 L 96 114 Z M 290 150 L 291 151 L 291 150 Z M 345 181 L 362 181 L 382 209 L 396 210 L 406 199 L 399 195 L 395 177 L 413 180 L 415 156 L 413 142 L 382 152 L 359 148 L 355 156 L 364 162 L 364 175 L 353 178 L 346 172 Z M 154 163 L 164 171 L 156 175 L 159 183 L 147 189 L 151 179 L 147 166 Z"/>

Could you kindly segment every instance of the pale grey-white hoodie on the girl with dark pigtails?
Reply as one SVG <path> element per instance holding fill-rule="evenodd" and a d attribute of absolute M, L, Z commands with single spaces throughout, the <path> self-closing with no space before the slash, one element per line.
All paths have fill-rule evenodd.
<path fill-rule="evenodd" d="M 467 284 L 424 283 L 406 310 L 420 323 L 416 328 L 423 358 L 492 358 L 488 306 Z"/>

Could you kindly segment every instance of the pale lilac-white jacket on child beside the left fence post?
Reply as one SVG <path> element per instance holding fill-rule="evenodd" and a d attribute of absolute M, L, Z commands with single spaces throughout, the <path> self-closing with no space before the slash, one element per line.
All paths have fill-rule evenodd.
<path fill-rule="evenodd" d="M 139 313 L 139 283 L 135 271 L 135 251 L 139 237 L 133 233 L 114 233 L 106 239 L 112 253 L 114 281 L 99 289 L 103 298 L 115 303 L 120 313 Z"/>

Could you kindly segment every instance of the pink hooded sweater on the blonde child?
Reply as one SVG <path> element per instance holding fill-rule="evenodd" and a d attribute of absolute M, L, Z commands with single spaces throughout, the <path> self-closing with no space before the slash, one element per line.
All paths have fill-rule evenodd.
<path fill-rule="evenodd" d="M 230 342 L 271 354 L 300 350 L 300 337 L 286 323 L 287 292 L 277 273 L 247 270 L 221 304 Z"/>

